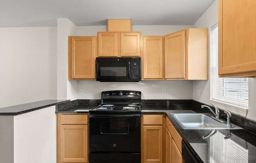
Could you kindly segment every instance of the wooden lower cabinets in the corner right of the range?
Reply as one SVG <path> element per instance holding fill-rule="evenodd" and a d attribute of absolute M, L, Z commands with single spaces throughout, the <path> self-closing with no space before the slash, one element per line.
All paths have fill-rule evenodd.
<path fill-rule="evenodd" d="M 182 139 L 165 115 L 143 115 L 141 124 L 142 163 L 183 163 Z"/>

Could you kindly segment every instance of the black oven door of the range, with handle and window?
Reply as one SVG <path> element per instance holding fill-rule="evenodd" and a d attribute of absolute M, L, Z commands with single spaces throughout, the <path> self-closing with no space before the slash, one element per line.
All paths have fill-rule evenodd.
<path fill-rule="evenodd" d="M 141 115 L 89 115 L 90 152 L 140 152 Z"/>

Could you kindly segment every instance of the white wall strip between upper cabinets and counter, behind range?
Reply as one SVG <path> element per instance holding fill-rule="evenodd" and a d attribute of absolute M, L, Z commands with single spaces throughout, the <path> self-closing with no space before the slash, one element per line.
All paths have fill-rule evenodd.
<path fill-rule="evenodd" d="M 78 81 L 79 88 L 84 89 L 84 95 L 78 99 L 101 99 L 101 91 L 131 90 L 141 91 L 142 99 L 192 99 L 192 81 L 143 81 L 143 82 L 95 82 Z M 166 88 L 166 95 L 162 89 Z"/>

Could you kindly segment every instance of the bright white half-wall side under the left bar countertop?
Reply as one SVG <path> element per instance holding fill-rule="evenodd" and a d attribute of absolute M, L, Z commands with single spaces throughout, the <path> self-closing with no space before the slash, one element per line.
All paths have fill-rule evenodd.
<path fill-rule="evenodd" d="M 13 121 L 13 163 L 56 163 L 55 106 L 14 116 Z"/>

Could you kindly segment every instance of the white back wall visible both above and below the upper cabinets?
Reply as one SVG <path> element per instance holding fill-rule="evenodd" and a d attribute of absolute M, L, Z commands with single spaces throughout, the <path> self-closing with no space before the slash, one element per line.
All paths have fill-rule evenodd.
<path fill-rule="evenodd" d="M 133 31 L 141 31 L 142 35 L 165 35 L 193 26 L 185 25 L 133 25 Z M 79 26 L 78 36 L 95 36 L 97 31 L 106 31 L 106 26 Z M 143 99 L 192 99 L 192 81 L 142 81 L 141 83 L 126 82 L 96 82 L 95 80 L 77 82 L 77 88 L 84 89 L 79 99 L 100 99 L 101 91 L 109 90 L 135 90 L 142 92 Z M 167 94 L 162 95 L 166 88 Z"/>

